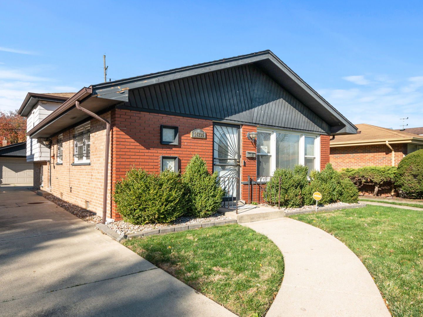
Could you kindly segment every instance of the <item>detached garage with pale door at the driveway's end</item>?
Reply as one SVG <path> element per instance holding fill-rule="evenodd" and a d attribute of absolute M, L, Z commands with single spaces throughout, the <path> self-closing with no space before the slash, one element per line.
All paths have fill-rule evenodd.
<path fill-rule="evenodd" d="M 26 142 L 0 147 L 0 184 L 33 185 L 34 165 L 26 161 Z"/>

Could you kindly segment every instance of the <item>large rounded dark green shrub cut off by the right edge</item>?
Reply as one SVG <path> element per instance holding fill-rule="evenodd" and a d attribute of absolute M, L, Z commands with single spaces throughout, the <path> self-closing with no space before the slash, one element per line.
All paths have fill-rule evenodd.
<path fill-rule="evenodd" d="M 412 152 L 401 160 L 395 185 L 401 196 L 423 198 L 423 149 Z"/>

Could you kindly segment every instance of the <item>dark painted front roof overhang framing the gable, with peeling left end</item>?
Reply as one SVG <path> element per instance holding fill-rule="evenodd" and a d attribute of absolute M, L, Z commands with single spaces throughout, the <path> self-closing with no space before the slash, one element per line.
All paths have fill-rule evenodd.
<path fill-rule="evenodd" d="M 295 74 L 270 50 L 263 52 L 225 58 L 219 61 L 202 63 L 193 66 L 171 69 L 123 80 L 112 83 L 93 85 L 93 96 L 127 102 L 130 89 L 191 77 L 198 74 L 214 72 L 243 64 L 253 63 L 269 74 L 273 80 L 294 95 L 306 107 L 310 108 L 317 116 L 330 125 L 330 135 L 356 134 L 357 127 L 348 121 L 329 102 L 321 97 L 307 83 Z"/>

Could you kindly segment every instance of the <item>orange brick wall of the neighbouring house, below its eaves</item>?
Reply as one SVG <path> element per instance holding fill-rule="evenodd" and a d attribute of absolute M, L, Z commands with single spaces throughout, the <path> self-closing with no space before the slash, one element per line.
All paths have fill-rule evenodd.
<path fill-rule="evenodd" d="M 395 151 L 395 166 L 407 155 L 407 144 L 391 144 Z M 336 170 L 362 166 L 391 166 L 392 151 L 385 144 L 339 146 L 330 148 L 330 163 Z"/>

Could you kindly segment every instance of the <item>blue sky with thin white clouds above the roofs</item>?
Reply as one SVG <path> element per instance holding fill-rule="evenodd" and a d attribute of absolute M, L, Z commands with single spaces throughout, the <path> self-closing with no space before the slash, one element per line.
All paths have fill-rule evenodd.
<path fill-rule="evenodd" d="M 3 1 L 0 110 L 272 50 L 354 124 L 423 126 L 421 1 Z"/>

